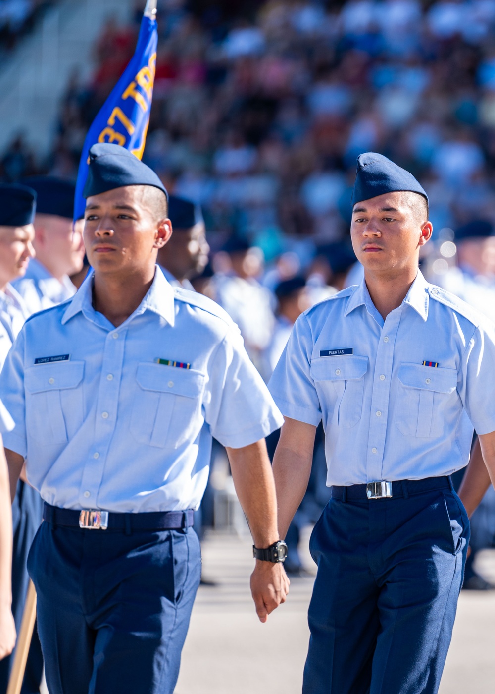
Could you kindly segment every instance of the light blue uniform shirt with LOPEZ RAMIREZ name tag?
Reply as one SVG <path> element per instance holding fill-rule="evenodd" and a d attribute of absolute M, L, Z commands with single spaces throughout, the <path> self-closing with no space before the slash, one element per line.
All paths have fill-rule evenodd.
<path fill-rule="evenodd" d="M 29 482 L 55 506 L 198 507 L 211 437 L 241 448 L 279 428 L 281 414 L 213 301 L 157 271 L 115 328 L 95 312 L 92 283 L 91 274 L 19 333 L 0 377 L 16 423 L 5 445 L 26 457 Z"/>

